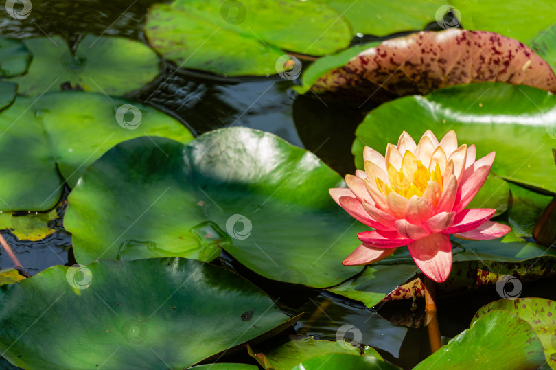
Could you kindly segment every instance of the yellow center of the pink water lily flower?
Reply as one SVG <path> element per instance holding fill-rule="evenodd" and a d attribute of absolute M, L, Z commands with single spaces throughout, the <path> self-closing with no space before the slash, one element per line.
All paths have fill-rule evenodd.
<path fill-rule="evenodd" d="M 387 196 L 390 192 L 396 192 L 406 198 L 411 198 L 414 195 L 423 196 L 428 181 L 431 180 L 435 181 L 442 189 L 443 181 L 440 166 L 438 163 L 435 164 L 435 169 L 429 170 L 408 150 L 404 154 L 399 171 L 390 163 L 387 164 L 388 183 L 376 178 L 378 189 L 384 196 Z"/>

